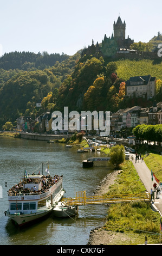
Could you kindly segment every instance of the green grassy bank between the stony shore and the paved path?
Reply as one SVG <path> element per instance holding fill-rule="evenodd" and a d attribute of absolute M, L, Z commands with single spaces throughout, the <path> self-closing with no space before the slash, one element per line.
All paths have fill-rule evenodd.
<path fill-rule="evenodd" d="M 144 193 L 145 187 L 139 179 L 131 161 L 125 161 L 115 183 L 109 187 L 107 194 Z M 138 245 L 159 243 L 158 212 L 151 209 L 150 203 L 112 204 L 108 209 L 107 221 L 103 229 L 115 231 L 119 236 L 113 240 L 113 245 Z M 125 241 L 121 237 L 125 237 Z M 108 243 L 109 244 L 109 243 Z"/>

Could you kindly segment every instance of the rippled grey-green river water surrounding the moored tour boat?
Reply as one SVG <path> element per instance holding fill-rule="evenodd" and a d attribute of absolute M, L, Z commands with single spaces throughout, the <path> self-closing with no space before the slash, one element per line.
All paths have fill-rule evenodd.
<path fill-rule="evenodd" d="M 107 162 L 82 168 L 82 161 L 100 153 L 77 153 L 78 147 L 65 144 L 27 141 L 0 136 L 0 245 L 87 245 L 90 230 L 101 227 L 106 220 L 106 205 L 79 206 L 79 215 L 45 220 L 28 227 L 18 228 L 4 215 L 8 209 L 7 191 L 27 173 L 33 173 L 41 163 L 49 161 L 51 176 L 63 174 L 65 197 L 75 197 L 76 191 L 86 190 L 92 196 L 102 179 L 110 172 Z M 5 185 L 7 182 L 7 186 Z"/>

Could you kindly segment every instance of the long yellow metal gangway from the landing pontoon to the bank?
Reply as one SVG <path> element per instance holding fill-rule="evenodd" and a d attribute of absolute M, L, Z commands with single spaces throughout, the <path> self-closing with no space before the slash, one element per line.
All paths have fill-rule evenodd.
<path fill-rule="evenodd" d="M 76 192 L 76 197 L 63 198 L 62 205 L 116 204 L 130 202 L 150 202 L 148 192 L 138 194 L 114 194 L 111 196 L 86 196 L 86 191 Z"/>

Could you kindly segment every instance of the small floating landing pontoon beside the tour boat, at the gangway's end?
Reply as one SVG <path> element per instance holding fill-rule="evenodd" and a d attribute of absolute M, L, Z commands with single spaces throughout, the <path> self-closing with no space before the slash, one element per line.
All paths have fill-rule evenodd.
<path fill-rule="evenodd" d="M 54 205 L 54 216 L 55 217 L 71 217 L 75 216 L 78 213 L 78 206 L 72 205 L 72 206 L 66 206 L 62 202 L 56 203 Z"/>

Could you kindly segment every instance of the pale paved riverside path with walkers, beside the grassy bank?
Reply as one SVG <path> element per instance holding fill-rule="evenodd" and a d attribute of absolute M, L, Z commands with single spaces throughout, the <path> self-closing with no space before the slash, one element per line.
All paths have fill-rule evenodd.
<path fill-rule="evenodd" d="M 137 160 L 137 162 L 135 163 L 135 154 L 133 154 L 133 156 L 134 156 L 132 160 L 133 165 L 137 170 L 140 180 L 144 184 L 147 192 L 150 193 L 151 188 L 153 188 L 154 182 L 156 182 L 154 179 L 153 181 L 151 180 L 151 170 L 148 169 L 144 161 L 141 162 L 141 160 Z M 131 160 L 131 157 L 130 157 L 130 160 Z M 154 202 L 152 202 L 152 206 L 155 210 L 158 210 L 159 214 L 162 216 L 162 191 L 159 193 L 158 196 L 159 196 L 158 199 L 156 199 L 156 192 L 155 192 L 155 197 L 154 197 L 155 199 L 154 199 Z"/>

